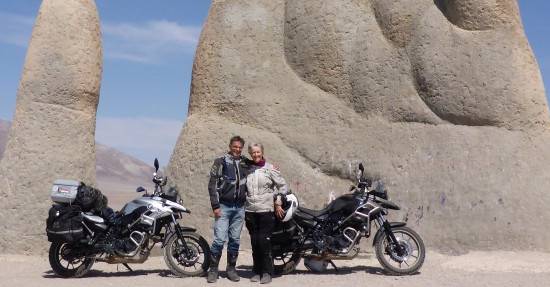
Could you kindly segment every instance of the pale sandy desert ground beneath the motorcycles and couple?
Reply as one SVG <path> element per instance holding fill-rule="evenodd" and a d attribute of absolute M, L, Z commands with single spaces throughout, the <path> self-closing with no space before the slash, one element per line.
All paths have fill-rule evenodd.
<path fill-rule="evenodd" d="M 250 252 L 243 250 L 241 254 L 241 282 L 222 277 L 216 284 L 206 283 L 205 278 L 173 277 L 162 257 L 131 265 L 133 272 L 121 265 L 97 263 L 84 278 L 63 279 L 52 273 L 45 257 L 0 255 L 0 286 L 255 286 L 258 283 L 247 279 L 251 276 Z M 372 253 L 362 253 L 353 261 L 337 261 L 336 265 L 338 272 L 330 268 L 324 274 L 313 274 L 300 264 L 295 273 L 274 278 L 271 286 L 542 287 L 550 282 L 550 253 L 541 252 L 470 252 L 460 256 L 429 252 L 421 272 L 411 276 L 386 274 Z"/>

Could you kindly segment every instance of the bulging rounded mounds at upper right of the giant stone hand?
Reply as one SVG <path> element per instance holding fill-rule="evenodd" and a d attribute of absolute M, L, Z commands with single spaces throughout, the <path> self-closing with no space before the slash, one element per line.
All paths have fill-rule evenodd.
<path fill-rule="evenodd" d="M 514 0 L 287 1 L 285 17 L 291 67 L 366 116 L 548 125 Z"/>

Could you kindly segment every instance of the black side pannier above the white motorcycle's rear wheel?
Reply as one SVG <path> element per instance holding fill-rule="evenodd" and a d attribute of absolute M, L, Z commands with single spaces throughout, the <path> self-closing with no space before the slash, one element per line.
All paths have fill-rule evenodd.
<path fill-rule="evenodd" d="M 81 209 L 76 205 L 53 205 L 46 220 L 48 241 L 73 243 L 84 238 Z"/>

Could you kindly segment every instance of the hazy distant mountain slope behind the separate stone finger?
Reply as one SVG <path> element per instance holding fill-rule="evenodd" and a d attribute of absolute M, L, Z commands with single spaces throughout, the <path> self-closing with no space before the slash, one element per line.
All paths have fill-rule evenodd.
<path fill-rule="evenodd" d="M 0 120 L 0 158 L 4 154 L 10 125 L 8 121 Z M 97 185 L 114 208 L 120 208 L 135 197 L 138 186 L 151 190 L 153 171 L 152 163 L 146 164 L 114 148 L 96 144 Z"/>

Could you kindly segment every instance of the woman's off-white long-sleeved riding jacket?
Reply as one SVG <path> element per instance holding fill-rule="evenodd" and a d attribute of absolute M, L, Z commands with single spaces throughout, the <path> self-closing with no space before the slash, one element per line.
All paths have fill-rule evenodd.
<path fill-rule="evenodd" d="M 246 187 L 247 212 L 273 212 L 273 196 L 277 193 L 286 194 L 288 190 L 279 170 L 267 162 L 263 167 L 256 167 L 246 177 Z"/>

